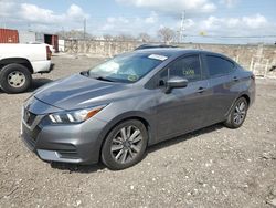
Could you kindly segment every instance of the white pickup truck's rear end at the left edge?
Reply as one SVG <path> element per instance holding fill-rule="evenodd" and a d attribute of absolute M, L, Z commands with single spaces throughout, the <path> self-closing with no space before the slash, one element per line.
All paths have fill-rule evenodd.
<path fill-rule="evenodd" d="M 32 83 L 32 74 L 53 70 L 51 50 L 44 44 L 0 44 L 0 86 L 21 93 Z"/>

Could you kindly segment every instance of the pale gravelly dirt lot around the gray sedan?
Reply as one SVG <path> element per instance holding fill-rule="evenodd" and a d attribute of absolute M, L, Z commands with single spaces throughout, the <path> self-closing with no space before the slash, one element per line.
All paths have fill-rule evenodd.
<path fill-rule="evenodd" d="M 99 60 L 53 59 L 34 87 Z M 50 165 L 20 139 L 20 112 L 31 94 L 0 92 L 0 207 L 273 207 L 276 200 L 276 80 L 257 80 L 243 127 L 215 125 L 148 149 L 138 165 Z M 276 201 L 275 201 L 276 202 Z"/>

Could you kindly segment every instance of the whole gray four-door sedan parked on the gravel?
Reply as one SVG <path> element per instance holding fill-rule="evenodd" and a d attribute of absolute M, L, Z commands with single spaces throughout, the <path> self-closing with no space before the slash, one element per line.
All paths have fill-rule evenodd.
<path fill-rule="evenodd" d="M 216 123 L 240 127 L 254 98 L 255 76 L 225 55 L 138 50 L 36 90 L 21 135 L 43 160 L 124 169 L 161 141 Z"/>

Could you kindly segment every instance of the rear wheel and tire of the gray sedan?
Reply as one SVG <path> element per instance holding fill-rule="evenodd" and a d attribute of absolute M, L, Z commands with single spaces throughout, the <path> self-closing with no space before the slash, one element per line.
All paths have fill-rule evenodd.
<path fill-rule="evenodd" d="M 233 105 L 224 125 L 229 128 L 238 128 L 243 125 L 248 110 L 246 98 L 240 97 Z"/>

